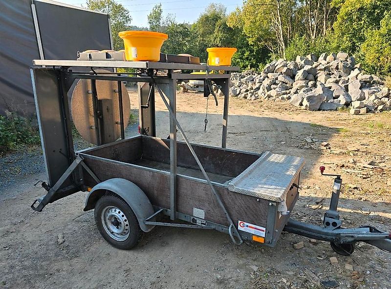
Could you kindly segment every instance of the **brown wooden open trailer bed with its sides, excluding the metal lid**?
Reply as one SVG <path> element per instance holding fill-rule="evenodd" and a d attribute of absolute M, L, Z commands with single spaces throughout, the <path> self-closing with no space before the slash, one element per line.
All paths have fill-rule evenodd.
<path fill-rule="evenodd" d="M 170 208 L 169 147 L 167 139 L 139 135 L 85 150 L 79 154 L 84 157 L 85 163 L 100 181 L 114 177 L 130 180 L 143 190 L 152 205 L 168 209 Z M 232 186 L 230 182 L 249 167 L 251 168 L 251 165 L 260 160 L 262 154 L 195 144 L 193 148 L 233 222 L 239 224 L 239 221 L 243 221 L 267 228 L 269 233 L 266 232 L 266 241 L 269 242 L 268 245 L 274 246 L 288 220 L 287 215 L 278 212 L 281 201 L 233 192 L 229 189 Z M 194 209 L 199 209 L 204 212 L 205 220 L 229 226 L 190 150 L 182 142 L 177 144 L 177 166 L 177 212 L 193 216 Z M 96 185 L 87 172 L 83 175 L 85 185 L 88 187 Z M 299 174 L 295 176 L 293 183 L 299 183 Z M 282 201 L 286 202 L 288 211 L 293 209 L 297 197 L 296 187 L 292 186 L 287 190 L 286 197 Z M 274 206 L 270 206 L 271 203 Z M 273 224 L 270 224 L 271 222 Z"/>

